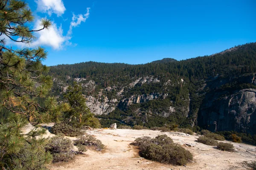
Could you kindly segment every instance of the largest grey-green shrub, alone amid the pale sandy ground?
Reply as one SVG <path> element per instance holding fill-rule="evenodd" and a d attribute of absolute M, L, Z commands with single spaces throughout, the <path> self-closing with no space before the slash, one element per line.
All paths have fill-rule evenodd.
<path fill-rule="evenodd" d="M 185 165 L 193 159 L 188 150 L 179 144 L 175 144 L 167 135 L 159 135 L 153 139 L 143 136 L 135 139 L 131 144 L 139 147 L 140 154 L 143 157 L 162 163 Z"/>

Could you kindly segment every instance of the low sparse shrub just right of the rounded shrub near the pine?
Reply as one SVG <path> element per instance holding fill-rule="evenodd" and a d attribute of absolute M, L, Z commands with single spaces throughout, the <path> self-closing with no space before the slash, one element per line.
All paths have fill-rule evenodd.
<path fill-rule="evenodd" d="M 102 150 L 104 149 L 104 144 L 102 144 L 102 142 L 98 139 L 96 139 L 95 137 L 91 136 L 91 135 L 81 135 L 78 137 L 78 139 L 75 140 L 75 145 L 80 146 L 84 145 L 84 146 L 93 146 L 96 148 L 96 150 Z"/>

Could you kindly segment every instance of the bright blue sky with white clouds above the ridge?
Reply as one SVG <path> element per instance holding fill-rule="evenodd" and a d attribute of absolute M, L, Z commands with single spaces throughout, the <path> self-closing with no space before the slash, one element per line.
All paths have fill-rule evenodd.
<path fill-rule="evenodd" d="M 49 52 L 46 65 L 181 60 L 256 42 L 255 0 L 27 2 L 36 20 L 53 22 L 32 43 Z"/>

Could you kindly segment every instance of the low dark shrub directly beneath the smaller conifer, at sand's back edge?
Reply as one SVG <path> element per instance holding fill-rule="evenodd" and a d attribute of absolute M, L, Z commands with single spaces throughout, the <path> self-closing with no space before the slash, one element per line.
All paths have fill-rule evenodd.
<path fill-rule="evenodd" d="M 72 137 L 84 134 L 84 132 L 81 131 L 81 129 L 76 128 L 76 127 L 72 127 L 72 126 L 68 125 L 65 122 L 56 123 L 52 127 L 51 131 L 55 135 L 64 134 L 65 136 L 72 136 Z"/>

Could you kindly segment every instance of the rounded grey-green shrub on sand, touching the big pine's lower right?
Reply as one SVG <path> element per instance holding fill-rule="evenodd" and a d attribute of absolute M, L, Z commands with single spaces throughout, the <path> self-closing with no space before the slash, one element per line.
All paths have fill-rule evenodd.
<path fill-rule="evenodd" d="M 52 154 L 53 162 L 73 159 L 75 155 L 73 148 L 72 141 L 61 135 L 49 138 L 48 143 L 45 146 L 45 150 Z"/>

